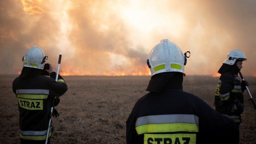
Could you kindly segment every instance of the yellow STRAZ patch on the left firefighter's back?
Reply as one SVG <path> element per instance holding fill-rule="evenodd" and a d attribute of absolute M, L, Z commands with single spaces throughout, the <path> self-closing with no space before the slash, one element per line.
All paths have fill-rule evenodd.
<path fill-rule="evenodd" d="M 28 110 L 43 110 L 43 100 L 30 100 L 18 98 L 18 103 L 21 108 Z"/>

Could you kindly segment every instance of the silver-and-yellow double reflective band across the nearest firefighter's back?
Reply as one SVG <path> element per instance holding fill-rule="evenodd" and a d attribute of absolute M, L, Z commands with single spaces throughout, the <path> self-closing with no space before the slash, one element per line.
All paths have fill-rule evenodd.
<path fill-rule="evenodd" d="M 149 132 L 198 132 L 199 118 L 196 115 L 150 115 L 142 116 L 136 121 L 137 133 Z"/>

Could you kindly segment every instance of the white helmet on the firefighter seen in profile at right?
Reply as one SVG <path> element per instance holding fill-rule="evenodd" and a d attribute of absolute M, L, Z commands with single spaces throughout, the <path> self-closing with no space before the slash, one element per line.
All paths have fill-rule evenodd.
<path fill-rule="evenodd" d="M 234 65 L 236 60 L 247 60 L 246 56 L 242 51 L 239 50 L 232 50 L 228 53 L 226 60 L 223 63 L 227 65 Z"/>

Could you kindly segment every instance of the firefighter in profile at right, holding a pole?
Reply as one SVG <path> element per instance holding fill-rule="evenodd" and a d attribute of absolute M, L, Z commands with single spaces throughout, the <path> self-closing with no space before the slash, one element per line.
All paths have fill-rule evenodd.
<path fill-rule="evenodd" d="M 218 70 L 221 74 L 215 92 L 215 109 L 219 113 L 228 116 L 240 125 L 241 114 L 244 110 L 243 92 L 247 81 L 241 81 L 238 73 L 242 68 L 243 61 L 247 60 L 240 50 L 232 50 L 227 54 L 226 60 Z"/>

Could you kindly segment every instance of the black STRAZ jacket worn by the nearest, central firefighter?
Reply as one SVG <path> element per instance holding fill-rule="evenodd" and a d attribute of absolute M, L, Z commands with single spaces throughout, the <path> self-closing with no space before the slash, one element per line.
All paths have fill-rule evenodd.
<path fill-rule="evenodd" d="M 182 88 L 141 97 L 126 121 L 127 144 L 238 143 L 238 126 Z"/>

